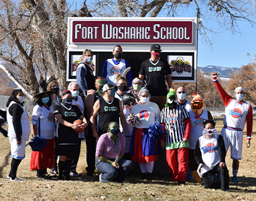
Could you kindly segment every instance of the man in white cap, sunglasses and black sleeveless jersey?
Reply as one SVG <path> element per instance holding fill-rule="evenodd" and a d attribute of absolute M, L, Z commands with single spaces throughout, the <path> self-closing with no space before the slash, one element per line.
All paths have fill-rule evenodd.
<path fill-rule="evenodd" d="M 117 86 L 107 83 L 103 86 L 103 98 L 99 98 L 92 108 L 90 116 L 90 125 L 92 126 L 93 136 L 97 139 L 104 133 L 107 133 L 107 124 L 110 121 L 119 122 L 123 127 L 123 135 L 125 135 L 125 115 L 123 114 L 122 103 L 119 99 L 115 98 L 115 91 Z M 96 126 L 95 117 L 98 116 L 98 128 Z"/>

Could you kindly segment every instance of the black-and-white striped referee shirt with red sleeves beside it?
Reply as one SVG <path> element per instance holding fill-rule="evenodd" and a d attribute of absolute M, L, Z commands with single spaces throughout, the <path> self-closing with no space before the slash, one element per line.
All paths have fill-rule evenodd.
<path fill-rule="evenodd" d="M 165 124 L 166 144 L 178 143 L 184 139 L 186 133 L 185 120 L 190 118 L 186 107 L 177 105 L 176 109 L 165 107 L 160 115 L 160 123 Z"/>

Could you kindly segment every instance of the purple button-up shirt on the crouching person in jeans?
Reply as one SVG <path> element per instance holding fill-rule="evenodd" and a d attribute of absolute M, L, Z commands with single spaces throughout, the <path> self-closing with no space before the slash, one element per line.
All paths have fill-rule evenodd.
<path fill-rule="evenodd" d="M 103 155 L 107 158 L 115 158 L 121 153 L 125 153 L 125 135 L 123 133 L 117 134 L 117 143 L 115 145 L 109 133 L 101 135 L 97 143 L 96 157 L 99 158 L 100 155 Z"/>

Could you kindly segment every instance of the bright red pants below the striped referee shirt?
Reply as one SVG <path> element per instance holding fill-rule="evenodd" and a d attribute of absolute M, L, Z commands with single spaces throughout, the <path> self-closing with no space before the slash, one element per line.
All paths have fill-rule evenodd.
<path fill-rule="evenodd" d="M 188 173 L 188 147 L 166 150 L 166 160 L 174 182 L 185 182 Z"/>

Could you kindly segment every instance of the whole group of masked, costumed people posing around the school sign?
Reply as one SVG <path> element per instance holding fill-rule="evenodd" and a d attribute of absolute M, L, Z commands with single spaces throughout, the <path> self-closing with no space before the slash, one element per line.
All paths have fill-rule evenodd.
<path fill-rule="evenodd" d="M 116 50 L 117 48 L 120 50 Z M 118 56 L 121 47 L 115 47 L 114 50 L 115 56 Z M 239 167 L 237 162 L 241 159 L 241 150 L 237 150 L 236 143 L 239 144 L 240 149 L 245 121 L 247 121 L 247 133 L 249 133 L 247 147 L 251 140 L 252 111 L 251 106 L 243 101 L 244 90 L 241 87 L 236 88 L 237 99 L 234 99 L 227 95 L 217 82 L 218 75 L 212 74 L 216 88 L 226 106 L 225 127 L 221 135 L 218 135 L 214 129 L 215 122 L 212 121 L 212 115 L 204 110 L 204 101 L 200 95 L 193 94 L 191 103 L 188 100 L 179 103 L 179 99 L 186 98 L 186 90 L 176 92 L 172 88 L 169 91 L 162 88 L 161 94 L 165 92 L 168 94 L 155 97 L 156 90 L 152 91 L 152 88 L 156 77 L 153 75 L 146 76 L 150 84 L 142 87 L 141 78 L 143 79 L 144 74 L 149 73 L 148 66 L 155 66 L 158 62 L 164 70 L 154 73 L 157 73 L 159 78 L 168 78 L 168 85 L 172 86 L 170 69 L 166 66 L 166 62 L 159 60 L 160 51 L 159 45 L 151 46 L 151 54 L 155 60 L 143 62 L 139 78 L 133 79 L 132 82 L 129 78 L 132 89 L 127 92 L 129 87 L 125 76 L 131 67 L 126 68 L 123 74 L 115 75 L 115 79 L 107 76 L 107 80 L 112 82 L 115 80 L 114 85 L 111 84 L 112 82 L 106 84 L 105 78 L 102 77 L 94 80 L 90 67 L 86 63 L 88 58 L 91 61 L 93 54 L 90 50 L 84 50 L 83 62 L 78 65 L 77 73 L 80 75 L 77 78 L 78 84 L 75 83 L 73 86 L 70 83 L 72 87 L 64 90 L 61 96 L 56 92 L 57 82 L 48 84 L 50 87 L 48 90 L 44 88 L 34 96 L 37 100 L 31 120 L 34 139 L 29 143 L 33 150 L 30 170 L 36 170 L 38 178 L 45 178 L 47 168 L 50 168 L 51 173 L 59 174 L 59 180 L 64 179 L 63 174 L 66 170 L 66 180 L 69 180 L 68 173 L 72 172 L 72 167 L 76 175 L 75 168 L 80 154 L 81 139 L 85 137 L 88 163 L 86 171 L 88 175 L 93 175 L 96 165 L 100 182 L 123 182 L 133 169 L 133 162 L 139 163 L 142 179 L 150 181 L 154 163 L 162 147 L 166 149 L 166 161 L 174 182 L 186 184 L 190 163 L 192 176 L 196 182 L 203 183 L 205 188 L 228 190 L 229 171 L 225 165 L 225 156 L 231 145 L 233 182 L 236 182 Z M 155 57 L 156 54 L 157 57 Z M 123 64 L 128 63 L 123 61 Z M 105 70 L 108 70 L 109 64 L 106 63 L 106 65 Z M 87 74 L 87 72 L 90 73 Z M 86 83 L 86 87 L 82 88 L 81 83 Z M 93 83 L 96 90 L 92 89 Z M 78 92 L 78 85 L 80 92 Z M 154 96 L 152 98 L 150 90 Z M 16 175 L 17 167 L 25 157 L 25 141 L 29 139 L 30 134 L 29 119 L 23 109 L 23 100 L 23 92 L 17 88 L 13 90 L 7 102 L 8 137 L 12 155 L 11 171 L 7 178 L 11 181 L 19 180 Z M 227 111 L 231 107 L 240 107 L 245 114 L 239 116 L 243 119 L 241 124 L 239 124 L 239 117 L 235 117 L 235 120 L 231 119 L 235 116 Z M 85 111 L 87 117 L 84 117 Z M 74 123 L 78 119 L 82 120 L 81 124 Z M 88 121 L 90 124 L 87 135 L 84 136 Z M 248 127 L 248 123 L 251 123 L 251 127 Z M 235 131 L 229 131 L 226 135 L 226 130 L 232 129 Z M 240 137 L 234 140 L 234 135 L 237 133 Z M 58 156 L 60 157 L 57 167 Z M 219 178 L 216 178 L 215 174 L 219 174 Z"/>

